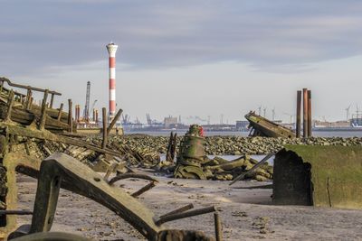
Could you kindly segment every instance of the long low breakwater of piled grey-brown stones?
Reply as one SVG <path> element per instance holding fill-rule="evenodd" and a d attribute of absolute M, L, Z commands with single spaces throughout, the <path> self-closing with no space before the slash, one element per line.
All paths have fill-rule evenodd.
<path fill-rule="evenodd" d="M 182 136 L 177 137 L 177 150 Z M 168 137 L 151 136 L 145 134 L 126 134 L 114 136 L 110 140 L 117 144 L 128 145 L 133 150 L 166 153 Z M 209 155 L 240 155 L 267 154 L 277 152 L 285 144 L 312 144 L 312 145 L 362 145 L 362 138 L 350 137 L 310 137 L 308 139 L 270 138 L 270 137 L 241 137 L 241 136 L 207 136 L 206 154 Z"/>

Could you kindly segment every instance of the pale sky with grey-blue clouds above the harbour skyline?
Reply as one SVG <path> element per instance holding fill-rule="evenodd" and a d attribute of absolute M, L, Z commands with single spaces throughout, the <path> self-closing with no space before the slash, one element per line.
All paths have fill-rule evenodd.
<path fill-rule="evenodd" d="M 115 42 L 117 105 L 131 120 L 233 124 L 262 107 L 290 121 L 301 88 L 314 119 L 345 120 L 362 110 L 360 13 L 352 0 L 0 0 L 0 76 L 81 107 L 90 81 L 90 103 L 108 107 Z"/>

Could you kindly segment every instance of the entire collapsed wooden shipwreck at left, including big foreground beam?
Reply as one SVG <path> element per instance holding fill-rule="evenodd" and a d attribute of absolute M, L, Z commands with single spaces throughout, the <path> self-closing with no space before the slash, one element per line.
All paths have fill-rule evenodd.
<path fill-rule="evenodd" d="M 5 83 L 10 87 L 25 89 L 26 94 L 5 88 Z M 34 104 L 33 91 L 43 92 L 42 106 Z M 48 103 L 49 95 L 51 99 Z M 128 221 L 148 240 L 214 240 L 202 232 L 178 230 L 163 225 L 176 219 L 215 212 L 214 207 L 176 209 L 156 217 L 137 197 L 152 189 L 157 180 L 138 173 L 126 173 L 117 175 L 109 181 L 110 172 L 117 171 L 119 165 L 124 164 L 122 160 L 126 154 L 135 155 L 138 162 L 142 162 L 144 158 L 139 153 L 132 152 L 127 146 L 115 148 L 114 144 L 108 143 L 110 129 L 117 119 L 107 126 L 105 115 L 103 115 L 102 144 L 97 145 L 82 140 L 81 135 L 76 133 L 76 125 L 72 121 L 71 100 L 68 113 L 62 111 L 63 105 L 58 109 L 53 108 L 54 97 L 60 95 L 52 90 L 18 85 L 9 79 L 0 78 L 0 240 L 6 237 L 18 241 L 50 240 L 54 236 L 57 240 L 88 240 L 80 236 L 49 232 L 61 188 L 99 202 Z M 121 110 L 117 116 L 120 116 L 120 113 Z M 43 144 L 44 152 L 48 156 L 44 160 L 31 152 L 30 146 L 39 142 Z M 22 145 L 24 151 L 16 152 L 16 148 Z M 99 162 L 103 162 L 103 171 L 107 172 L 106 175 L 101 177 L 94 171 L 97 169 L 97 164 L 88 163 L 87 166 L 65 153 L 52 153 L 52 145 L 62 146 L 64 151 L 73 153 L 78 159 L 89 154 L 104 156 L 104 159 L 98 159 Z M 38 179 L 33 212 L 16 210 L 16 172 Z M 113 185 L 114 182 L 127 178 L 147 179 L 151 182 L 129 195 Z M 16 229 L 14 215 L 32 213 L 32 224 Z M 218 215 L 215 217 L 217 217 L 215 218 L 216 239 L 221 240 L 220 219 Z"/>

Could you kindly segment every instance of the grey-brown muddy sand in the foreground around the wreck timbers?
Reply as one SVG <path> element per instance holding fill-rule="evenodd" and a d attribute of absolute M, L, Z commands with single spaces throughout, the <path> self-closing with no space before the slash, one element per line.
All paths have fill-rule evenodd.
<path fill-rule="evenodd" d="M 224 240 L 362 240 L 362 210 L 319 209 L 314 207 L 273 206 L 271 189 L 237 189 L 269 184 L 239 181 L 175 180 L 157 177 L 153 190 L 140 196 L 156 215 L 193 203 L 195 208 L 220 207 Z M 119 181 L 129 193 L 147 181 Z M 33 209 L 36 181 L 19 178 L 19 209 Z M 31 217 L 19 217 L 19 224 Z M 197 229 L 214 236 L 214 217 L 205 214 L 167 223 L 167 227 Z M 78 233 L 98 240 L 144 240 L 138 232 L 90 199 L 61 190 L 52 231 Z"/>

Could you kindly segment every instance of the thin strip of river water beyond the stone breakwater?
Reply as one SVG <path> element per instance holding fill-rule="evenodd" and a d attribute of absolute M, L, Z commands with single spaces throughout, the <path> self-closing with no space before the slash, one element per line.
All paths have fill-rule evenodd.
<path fill-rule="evenodd" d="M 184 135 L 186 131 L 173 131 L 177 135 Z M 125 134 L 149 134 L 153 136 L 169 136 L 170 132 L 125 132 Z M 205 132 L 205 136 L 214 135 L 233 135 L 233 136 L 248 136 L 249 132 Z M 361 131 L 316 131 L 313 132 L 316 137 L 359 137 L 362 138 Z"/>

